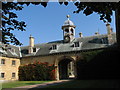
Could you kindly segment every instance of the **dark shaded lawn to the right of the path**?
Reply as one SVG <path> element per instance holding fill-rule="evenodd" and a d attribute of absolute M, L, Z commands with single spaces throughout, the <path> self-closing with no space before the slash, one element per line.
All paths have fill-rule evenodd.
<path fill-rule="evenodd" d="M 119 88 L 118 80 L 73 80 L 46 88 Z"/>

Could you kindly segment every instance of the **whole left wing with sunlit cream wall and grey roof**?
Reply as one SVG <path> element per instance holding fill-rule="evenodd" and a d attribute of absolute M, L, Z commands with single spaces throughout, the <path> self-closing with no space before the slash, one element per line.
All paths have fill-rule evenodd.
<path fill-rule="evenodd" d="M 0 81 L 18 80 L 19 47 L 0 43 Z"/>

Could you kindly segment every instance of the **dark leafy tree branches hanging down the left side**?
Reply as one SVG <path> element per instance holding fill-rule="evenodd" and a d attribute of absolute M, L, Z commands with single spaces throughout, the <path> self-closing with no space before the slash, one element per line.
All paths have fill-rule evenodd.
<path fill-rule="evenodd" d="M 13 30 L 25 31 L 26 24 L 24 21 L 18 21 L 17 14 L 13 10 L 20 11 L 24 5 L 29 6 L 43 5 L 47 6 L 47 2 L 2 2 L 2 43 L 14 45 L 22 45 L 17 37 L 11 32 Z"/>

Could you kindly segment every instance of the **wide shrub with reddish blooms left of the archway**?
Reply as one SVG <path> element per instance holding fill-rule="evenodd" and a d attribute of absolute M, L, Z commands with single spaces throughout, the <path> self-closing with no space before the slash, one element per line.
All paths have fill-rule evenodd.
<path fill-rule="evenodd" d="M 19 67 L 20 81 L 55 80 L 55 66 L 47 62 L 34 62 Z"/>

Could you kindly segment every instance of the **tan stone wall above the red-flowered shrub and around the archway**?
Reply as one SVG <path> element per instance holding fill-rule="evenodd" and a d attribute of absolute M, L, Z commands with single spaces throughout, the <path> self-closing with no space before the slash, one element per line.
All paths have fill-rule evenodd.
<path fill-rule="evenodd" d="M 33 56 L 33 57 L 23 57 L 20 60 L 21 65 L 26 65 L 26 64 L 32 64 L 35 61 L 40 61 L 40 62 L 48 62 L 49 64 L 54 64 L 57 68 L 56 68 L 56 80 L 59 80 L 59 69 L 58 69 L 58 64 L 61 60 L 64 59 L 70 59 L 74 62 L 76 62 L 76 60 L 80 58 L 80 53 L 79 54 L 71 54 L 71 53 L 67 53 L 67 54 L 58 54 L 58 55 L 48 55 L 48 56 Z M 76 73 L 76 70 L 75 70 Z"/>

